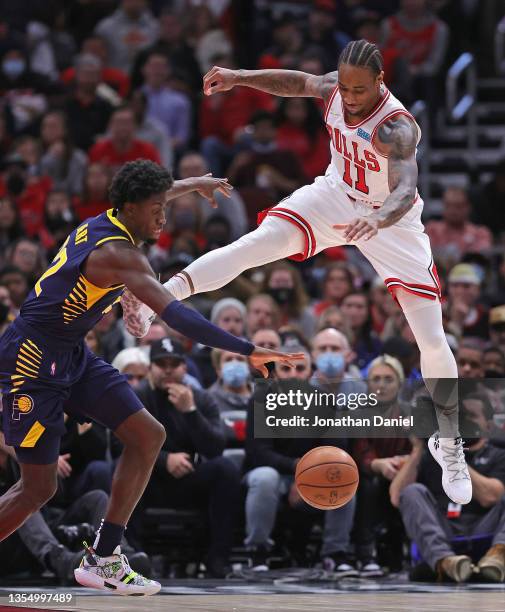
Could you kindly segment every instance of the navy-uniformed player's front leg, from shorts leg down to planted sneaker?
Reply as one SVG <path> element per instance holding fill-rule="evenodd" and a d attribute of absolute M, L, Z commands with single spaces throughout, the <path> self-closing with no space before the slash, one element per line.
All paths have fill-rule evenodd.
<path fill-rule="evenodd" d="M 65 411 L 108 427 L 123 443 L 105 516 L 93 548 L 75 578 L 83 586 L 115 594 L 153 595 L 161 585 L 132 571 L 120 542 L 147 485 L 165 430 L 143 407 L 126 378 L 90 352 L 86 370 L 72 387 Z"/>

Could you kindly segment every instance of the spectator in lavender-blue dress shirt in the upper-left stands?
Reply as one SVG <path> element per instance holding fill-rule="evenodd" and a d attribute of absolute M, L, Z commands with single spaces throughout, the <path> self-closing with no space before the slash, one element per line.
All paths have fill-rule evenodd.
<path fill-rule="evenodd" d="M 142 91 L 147 97 L 147 116 L 163 125 L 172 148 L 181 151 L 191 136 L 191 102 L 169 86 L 170 70 L 164 55 L 151 53 L 142 68 Z"/>

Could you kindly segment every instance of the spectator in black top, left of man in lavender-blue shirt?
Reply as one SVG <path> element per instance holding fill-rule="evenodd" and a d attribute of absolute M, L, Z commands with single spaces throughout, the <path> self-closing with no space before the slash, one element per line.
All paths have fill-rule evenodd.
<path fill-rule="evenodd" d="M 94 144 L 107 129 L 113 105 L 98 92 L 102 64 L 94 55 L 83 54 L 75 59 L 75 82 L 65 103 L 70 138 L 83 151 Z"/>

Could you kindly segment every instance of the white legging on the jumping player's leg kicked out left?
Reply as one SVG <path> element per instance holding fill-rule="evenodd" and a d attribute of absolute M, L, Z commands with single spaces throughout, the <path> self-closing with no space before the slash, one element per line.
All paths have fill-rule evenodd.
<path fill-rule="evenodd" d="M 199 257 L 182 272 L 172 276 L 165 287 L 178 300 L 184 300 L 193 293 L 219 289 L 244 270 L 284 259 L 303 250 L 304 238 L 299 229 L 284 219 L 267 217 L 253 232 Z"/>

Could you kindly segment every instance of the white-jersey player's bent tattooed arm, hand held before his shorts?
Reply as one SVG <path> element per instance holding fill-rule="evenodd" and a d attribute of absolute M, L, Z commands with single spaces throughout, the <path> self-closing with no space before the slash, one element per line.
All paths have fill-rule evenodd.
<path fill-rule="evenodd" d="M 364 238 L 369 240 L 379 229 L 394 225 L 414 204 L 417 184 L 416 163 L 417 127 L 405 115 L 397 115 L 383 123 L 377 130 L 375 148 L 389 158 L 389 196 L 382 207 L 369 215 L 353 219 L 344 225 L 334 225 L 343 230 L 347 242 Z"/>

